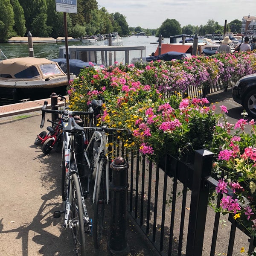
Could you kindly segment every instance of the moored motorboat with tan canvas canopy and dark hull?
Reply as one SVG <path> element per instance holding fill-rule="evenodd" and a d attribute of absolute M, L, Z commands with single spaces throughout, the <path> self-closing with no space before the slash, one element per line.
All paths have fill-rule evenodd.
<path fill-rule="evenodd" d="M 76 75 L 70 74 L 70 79 Z M 55 61 L 46 58 L 10 58 L 0 61 L 0 97 L 13 99 L 44 99 L 53 92 L 67 93 L 67 74 Z"/>

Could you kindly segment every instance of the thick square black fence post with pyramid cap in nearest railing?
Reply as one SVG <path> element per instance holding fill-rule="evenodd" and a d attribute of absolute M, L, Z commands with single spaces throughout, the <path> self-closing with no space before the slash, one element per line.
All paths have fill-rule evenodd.
<path fill-rule="evenodd" d="M 207 149 L 195 151 L 186 256 L 202 255 L 209 197 L 206 179 L 211 175 L 213 155 Z"/>

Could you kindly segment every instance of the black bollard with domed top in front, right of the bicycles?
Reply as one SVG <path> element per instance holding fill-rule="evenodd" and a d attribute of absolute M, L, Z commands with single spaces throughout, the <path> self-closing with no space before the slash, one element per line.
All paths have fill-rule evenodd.
<path fill-rule="evenodd" d="M 127 171 L 129 164 L 122 157 L 116 157 L 110 165 L 112 170 L 111 225 L 108 249 L 115 255 L 127 255 L 127 190 L 129 187 Z"/>

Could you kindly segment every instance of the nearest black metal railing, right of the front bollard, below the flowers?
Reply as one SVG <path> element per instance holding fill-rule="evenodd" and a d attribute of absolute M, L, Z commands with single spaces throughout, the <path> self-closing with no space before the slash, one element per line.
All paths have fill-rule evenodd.
<path fill-rule="evenodd" d="M 240 255 L 250 234 L 239 229 L 232 215 L 226 217 L 230 224 L 225 224 L 224 216 L 208 206 L 210 191 L 218 183 L 210 176 L 210 151 L 196 151 L 190 162 L 166 155 L 154 164 L 138 152 L 127 158 L 128 212 L 160 255 Z M 220 200 L 219 195 L 217 205 Z M 247 242 L 249 253 L 254 250 L 253 241 Z"/>

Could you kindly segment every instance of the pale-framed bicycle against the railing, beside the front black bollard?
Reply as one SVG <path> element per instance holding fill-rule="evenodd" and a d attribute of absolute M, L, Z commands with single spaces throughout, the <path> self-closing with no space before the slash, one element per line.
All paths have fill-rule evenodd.
<path fill-rule="evenodd" d="M 92 106 L 100 112 L 102 101 L 93 100 Z M 108 137 L 109 132 L 125 131 L 126 129 L 102 127 L 84 127 L 85 130 L 93 131 L 90 140 L 84 150 L 84 157 L 87 168 L 90 169 L 92 178 L 95 179 L 93 188 L 93 243 L 96 249 L 99 248 L 102 240 L 104 228 L 105 205 L 110 203 L 109 200 L 109 158 L 108 158 Z M 89 136 L 88 136 L 89 137 Z M 89 186 L 87 190 L 89 189 Z"/>

